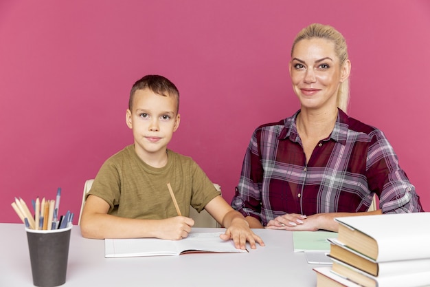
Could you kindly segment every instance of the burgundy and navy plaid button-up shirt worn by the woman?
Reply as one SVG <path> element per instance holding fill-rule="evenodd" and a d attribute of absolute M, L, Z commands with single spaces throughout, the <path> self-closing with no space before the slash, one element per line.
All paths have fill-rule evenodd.
<path fill-rule="evenodd" d="M 422 211 L 382 131 L 339 109 L 335 128 L 306 164 L 297 114 L 254 131 L 231 202 L 234 209 L 266 226 L 285 213 L 367 211 L 376 193 L 383 213 Z"/>

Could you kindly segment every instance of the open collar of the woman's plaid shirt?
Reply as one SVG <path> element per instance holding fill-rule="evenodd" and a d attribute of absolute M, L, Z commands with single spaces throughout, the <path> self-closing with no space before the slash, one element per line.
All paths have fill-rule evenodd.
<path fill-rule="evenodd" d="M 284 127 L 280 132 L 278 140 L 285 140 L 286 138 L 289 138 L 293 142 L 299 141 L 299 133 L 297 132 L 297 125 L 296 125 L 297 115 L 299 114 L 299 112 L 300 110 L 296 111 L 293 116 L 291 116 L 290 118 L 286 118 L 284 120 Z M 342 145 L 345 145 L 346 138 L 348 136 L 348 127 L 349 127 L 348 123 L 349 123 L 348 115 L 345 114 L 344 111 L 338 108 L 335 128 L 330 134 L 330 137 L 326 138 L 325 140 L 329 140 L 331 138 L 332 140 L 335 140 L 336 142 L 339 142 Z"/>

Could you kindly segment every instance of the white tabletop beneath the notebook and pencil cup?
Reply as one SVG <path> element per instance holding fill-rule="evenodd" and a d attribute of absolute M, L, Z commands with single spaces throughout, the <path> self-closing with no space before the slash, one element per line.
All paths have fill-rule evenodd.
<path fill-rule="evenodd" d="M 193 228 L 216 232 L 223 228 Z M 255 229 L 266 246 L 249 253 L 192 253 L 179 256 L 104 258 L 104 240 L 71 230 L 63 286 L 297 286 L 315 287 L 315 265 L 293 252 L 289 231 Z M 23 224 L 0 224 L 0 286 L 33 286 Z"/>

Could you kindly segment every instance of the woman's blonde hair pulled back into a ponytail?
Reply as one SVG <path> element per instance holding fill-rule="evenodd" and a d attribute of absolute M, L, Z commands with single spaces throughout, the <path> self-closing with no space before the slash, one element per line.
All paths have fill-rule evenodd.
<path fill-rule="evenodd" d="M 335 53 L 339 58 L 340 66 L 348 60 L 348 48 L 346 46 L 345 38 L 343 35 L 330 25 L 323 25 L 319 23 L 313 23 L 308 25 L 302 31 L 295 36 L 293 47 L 291 47 L 291 55 L 295 45 L 302 40 L 310 40 L 313 38 L 321 38 L 331 41 L 335 44 Z M 339 91 L 337 92 L 337 107 L 347 112 L 348 101 L 350 98 L 350 80 L 347 78 L 339 85 Z"/>

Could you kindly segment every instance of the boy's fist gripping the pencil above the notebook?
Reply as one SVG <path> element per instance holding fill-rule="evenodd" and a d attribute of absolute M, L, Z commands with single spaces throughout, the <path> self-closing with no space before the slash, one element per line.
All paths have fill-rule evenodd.
<path fill-rule="evenodd" d="M 160 220 L 157 238 L 163 240 L 181 240 L 188 237 L 194 220 L 185 216 L 170 217 Z"/>

